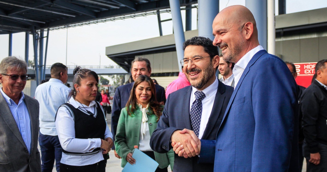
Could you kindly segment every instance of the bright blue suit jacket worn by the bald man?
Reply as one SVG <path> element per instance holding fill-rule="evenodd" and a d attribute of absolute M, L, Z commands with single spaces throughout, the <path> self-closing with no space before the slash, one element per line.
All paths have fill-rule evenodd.
<path fill-rule="evenodd" d="M 259 51 L 235 87 L 216 143 L 201 140 L 200 158 L 214 160 L 217 172 L 299 171 L 296 95 L 285 63 Z"/>

